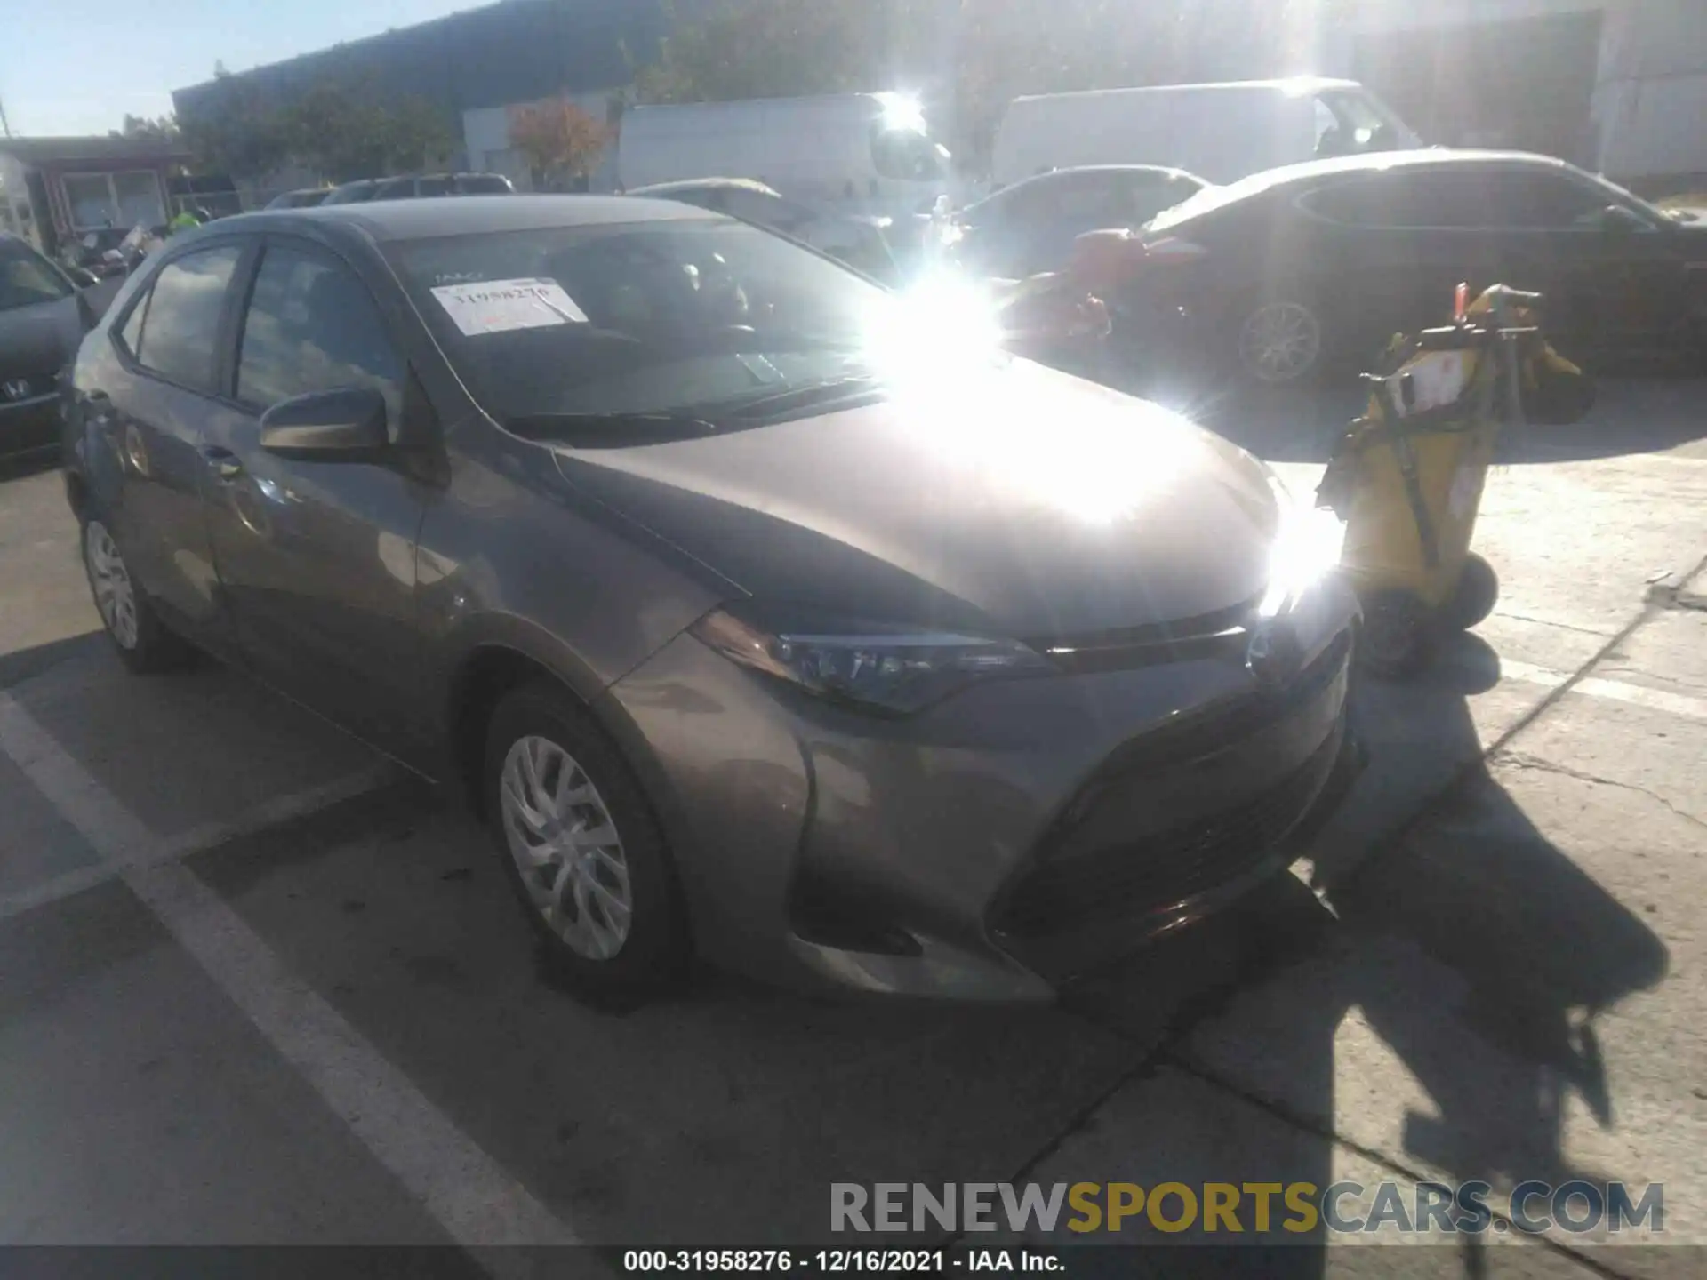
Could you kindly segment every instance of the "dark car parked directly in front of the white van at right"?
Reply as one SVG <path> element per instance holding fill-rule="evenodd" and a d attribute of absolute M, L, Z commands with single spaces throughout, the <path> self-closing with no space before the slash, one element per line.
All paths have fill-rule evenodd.
<path fill-rule="evenodd" d="M 947 247 L 968 271 L 1021 280 L 1057 271 L 1087 230 L 1137 230 L 1205 188 L 1183 169 L 1145 164 L 1058 169 L 959 210 Z"/>

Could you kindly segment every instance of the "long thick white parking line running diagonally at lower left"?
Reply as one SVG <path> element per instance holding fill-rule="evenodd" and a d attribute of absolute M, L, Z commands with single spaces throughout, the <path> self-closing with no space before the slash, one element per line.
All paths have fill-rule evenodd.
<path fill-rule="evenodd" d="M 457 1244 L 493 1275 L 529 1273 L 505 1244 L 575 1234 L 440 1113 L 106 787 L 0 693 L 0 751 L 159 918 L 261 1036 Z"/>

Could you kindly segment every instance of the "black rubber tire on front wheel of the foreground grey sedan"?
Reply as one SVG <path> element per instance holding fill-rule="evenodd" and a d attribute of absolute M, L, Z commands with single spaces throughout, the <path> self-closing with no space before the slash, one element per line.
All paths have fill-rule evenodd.
<path fill-rule="evenodd" d="M 505 807 L 504 795 L 512 751 L 526 751 L 522 744 L 529 741 L 543 741 L 562 753 L 572 768 L 567 780 L 570 792 L 582 792 L 580 783 L 591 788 L 586 802 L 570 806 L 562 819 L 574 821 L 574 829 L 567 835 L 582 828 L 589 833 L 606 829 L 599 821 L 603 811 L 615 836 L 603 841 L 603 853 L 582 858 L 586 870 L 579 874 L 579 881 L 570 874 L 551 908 L 541 906 L 539 896 L 550 898 L 546 882 L 563 872 L 565 858 L 550 850 L 551 840 L 563 838 L 565 831 L 553 826 L 551 840 L 539 838 L 539 843 L 533 843 L 536 833 L 524 826 L 517 809 Z M 522 768 L 519 759 L 517 768 Z M 565 765 L 558 761 L 555 768 L 558 771 L 550 771 L 548 756 L 539 778 L 550 790 L 556 790 Z M 526 785 L 524 775 L 512 777 Z M 652 993 L 681 978 L 690 952 L 686 913 L 664 835 L 633 770 L 567 689 L 551 683 L 526 684 L 498 701 L 486 727 L 481 795 L 498 860 L 555 978 L 589 995 Z M 512 852 L 512 828 L 521 841 L 517 848 L 536 848 L 555 860 L 531 865 L 524 876 L 522 855 Z M 621 874 L 611 857 L 606 857 L 613 850 Z M 606 893 L 587 884 L 589 876 Z M 620 930 L 620 911 L 609 903 L 615 901 L 613 894 L 623 896 L 623 889 L 628 920 Z M 555 911 L 555 918 L 548 918 L 546 910 Z M 603 939 L 608 944 L 616 932 L 623 935 L 609 954 L 589 954 L 589 940 Z M 579 944 L 572 937 L 579 937 Z"/>

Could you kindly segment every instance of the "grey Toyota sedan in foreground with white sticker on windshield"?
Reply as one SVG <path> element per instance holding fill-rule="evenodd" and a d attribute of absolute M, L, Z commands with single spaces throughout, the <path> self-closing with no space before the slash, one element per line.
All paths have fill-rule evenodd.
<path fill-rule="evenodd" d="M 67 492 L 126 664 L 466 785 L 575 978 L 1043 1000 L 1292 860 L 1355 604 L 1251 456 L 941 336 L 669 201 L 251 213 L 84 343 Z"/>

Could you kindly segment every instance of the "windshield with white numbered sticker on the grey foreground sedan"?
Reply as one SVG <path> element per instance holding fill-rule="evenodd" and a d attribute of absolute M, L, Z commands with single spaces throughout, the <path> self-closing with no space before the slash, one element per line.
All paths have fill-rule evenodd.
<path fill-rule="evenodd" d="M 475 398 L 509 423 L 715 416 L 869 377 L 900 333 L 886 290 L 724 218 L 411 241 L 393 259 Z"/>

